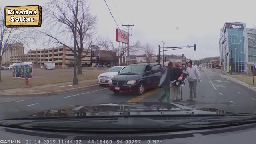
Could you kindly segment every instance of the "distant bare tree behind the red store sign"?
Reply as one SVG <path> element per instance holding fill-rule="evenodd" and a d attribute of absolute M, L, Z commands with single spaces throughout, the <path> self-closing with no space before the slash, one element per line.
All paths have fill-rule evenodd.
<path fill-rule="evenodd" d="M 114 42 L 112 42 L 109 39 L 102 39 L 100 41 L 100 46 L 104 50 L 110 52 L 111 56 L 113 56 L 113 58 L 114 58 L 114 63 L 115 64 L 117 64 L 118 63 L 118 59 L 121 58 L 122 56 L 124 56 L 124 54 L 126 54 L 127 51 L 128 51 L 128 47 L 127 46 L 116 48 L 114 46 Z M 141 46 L 140 46 L 140 42 L 139 41 L 137 41 L 136 43 L 130 45 L 130 53 L 138 52 L 140 47 Z"/>

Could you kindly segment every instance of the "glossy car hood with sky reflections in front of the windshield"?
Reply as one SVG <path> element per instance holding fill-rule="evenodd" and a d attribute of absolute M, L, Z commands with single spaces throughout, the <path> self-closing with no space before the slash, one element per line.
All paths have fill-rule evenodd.
<path fill-rule="evenodd" d="M 184 103 L 101 103 L 96 105 L 70 106 L 43 110 L 27 117 L 42 116 L 120 116 L 120 115 L 185 115 L 185 114 L 232 114 L 216 108 L 186 106 Z"/>

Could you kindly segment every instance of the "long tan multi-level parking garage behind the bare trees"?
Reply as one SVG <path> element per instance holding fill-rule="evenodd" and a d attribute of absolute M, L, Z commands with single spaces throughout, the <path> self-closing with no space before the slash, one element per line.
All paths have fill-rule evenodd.
<path fill-rule="evenodd" d="M 90 51 L 86 51 L 87 50 L 83 50 L 82 53 L 82 55 L 86 55 L 81 60 L 82 66 L 87 66 L 87 64 L 90 64 L 91 62 Z M 38 66 L 42 65 L 44 62 L 54 62 L 57 68 L 65 68 L 73 63 L 74 54 L 73 50 L 70 50 L 70 48 L 59 46 L 55 48 L 30 50 L 26 54 L 10 56 L 10 64 L 24 61 L 33 62 L 33 64 Z"/>

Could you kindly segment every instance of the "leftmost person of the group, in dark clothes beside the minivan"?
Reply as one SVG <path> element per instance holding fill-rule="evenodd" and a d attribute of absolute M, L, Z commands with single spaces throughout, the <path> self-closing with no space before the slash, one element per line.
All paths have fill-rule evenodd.
<path fill-rule="evenodd" d="M 166 66 L 162 72 L 164 75 L 166 73 L 166 76 L 164 78 L 164 82 L 161 84 L 161 86 L 164 88 L 164 94 L 158 99 L 159 102 L 163 102 L 164 99 L 164 102 L 170 102 L 170 76 L 172 68 L 173 63 L 169 62 L 168 66 Z"/>

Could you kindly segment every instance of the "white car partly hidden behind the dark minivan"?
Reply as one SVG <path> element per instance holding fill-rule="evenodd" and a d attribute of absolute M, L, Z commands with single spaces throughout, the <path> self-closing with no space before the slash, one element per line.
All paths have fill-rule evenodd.
<path fill-rule="evenodd" d="M 100 86 L 108 85 L 108 81 L 118 75 L 126 66 L 114 66 L 98 76 Z"/>

